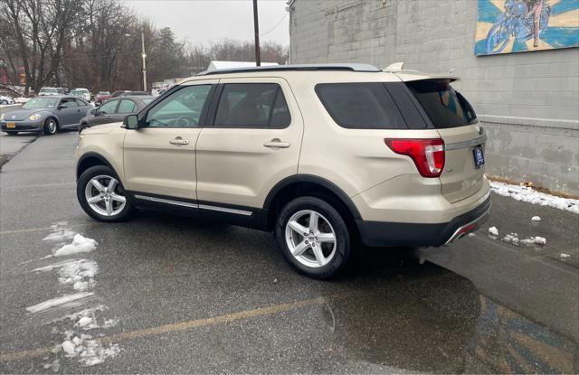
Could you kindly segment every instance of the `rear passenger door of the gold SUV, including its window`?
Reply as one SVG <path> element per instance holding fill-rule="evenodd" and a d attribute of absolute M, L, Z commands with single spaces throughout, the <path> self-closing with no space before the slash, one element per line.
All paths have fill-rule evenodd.
<path fill-rule="evenodd" d="M 214 126 L 197 140 L 197 197 L 249 215 L 276 183 L 298 172 L 301 114 L 283 79 L 223 79 L 215 98 Z"/>

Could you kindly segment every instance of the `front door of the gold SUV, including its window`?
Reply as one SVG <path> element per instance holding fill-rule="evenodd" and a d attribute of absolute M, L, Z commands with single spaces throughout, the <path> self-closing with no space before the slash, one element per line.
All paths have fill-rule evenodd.
<path fill-rule="evenodd" d="M 184 83 L 138 114 L 141 126 L 124 143 L 127 189 L 138 199 L 161 196 L 181 206 L 196 200 L 195 143 L 217 82 Z"/>

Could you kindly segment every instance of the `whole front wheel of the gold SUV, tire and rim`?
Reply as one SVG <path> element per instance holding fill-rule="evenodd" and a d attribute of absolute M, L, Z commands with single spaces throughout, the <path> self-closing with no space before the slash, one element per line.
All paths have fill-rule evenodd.
<path fill-rule="evenodd" d="M 95 220 L 127 220 L 134 211 L 119 177 L 106 165 L 93 166 L 82 173 L 76 194 L 82 210 Z"/>

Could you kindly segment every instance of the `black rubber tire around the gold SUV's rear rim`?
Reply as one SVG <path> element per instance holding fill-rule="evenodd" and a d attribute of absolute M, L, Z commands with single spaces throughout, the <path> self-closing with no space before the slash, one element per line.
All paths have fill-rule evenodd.
<path fill-rule="evenodd" d="M 335 234 L 335 253 L 328 263 L 321 267 L 308 267 L 299 262 L 289 250 L 288 242 L 291 241 L 286 236 L 286 225 L 294 214 L 300 211 L 316 211 L 327 220 Z M 299 273 L 308 277 L 318 279 L 328 279 L 339 275 L 346 267 L 352 253 L 352 243 L 350 231 L 346 221 L 339 212 L 326 201 L 316 197 L 300 197 L 287 203 L 280 211 L 275 225 L 275 239 L 283 256 L 289 264 L 295 267 Z M 304 238 L 305 240 L 305 238 Z M 310 251 L 309 249 L 307 251 Z M 304 252 L 306 254 L 306 252 Z"/>

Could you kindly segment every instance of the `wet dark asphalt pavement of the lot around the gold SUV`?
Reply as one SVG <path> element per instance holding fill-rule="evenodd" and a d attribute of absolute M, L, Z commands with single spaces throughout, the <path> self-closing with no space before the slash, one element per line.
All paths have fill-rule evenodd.
<path fill-rule="evenodd" d="M 579 372 L 579 215 L 493 193 L 476 236 L 364 249 L 320 282 L 296 274 L 269 233 L 153 211 L 90 220 L 76 201 L 76 138 L 41 136 L 0 173 L 2 373 Z M 52 226 L 98 246 L 45 258 Z M 516 247 L 489 226 L 547 243 Z M 78 292 L 56 269 L 33 272 L 71 258 L 98 266 L 91 295 L 29 313 Z M 70 317 L 96 306 L 92 329 Z M 67 356 L 67 334 L 99 342 L 102 362 Z"/>

